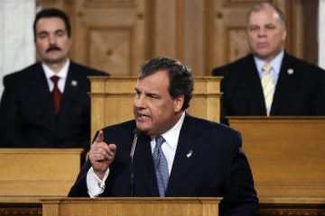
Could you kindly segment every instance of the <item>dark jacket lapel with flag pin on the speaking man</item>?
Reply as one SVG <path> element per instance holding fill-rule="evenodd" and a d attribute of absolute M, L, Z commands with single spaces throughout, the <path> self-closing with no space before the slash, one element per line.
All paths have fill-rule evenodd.
<path fill-rule="evenodd" d="M 200 149 L 193 141 L 197 134 L 194 127 L 195 125 L 190 122 L 190 116 L 187 115 L 181 127 L 166 196 L 177 196 L 179 194 L 181 185 L 188 178 L 190 168 L 199 153 Z"/>

